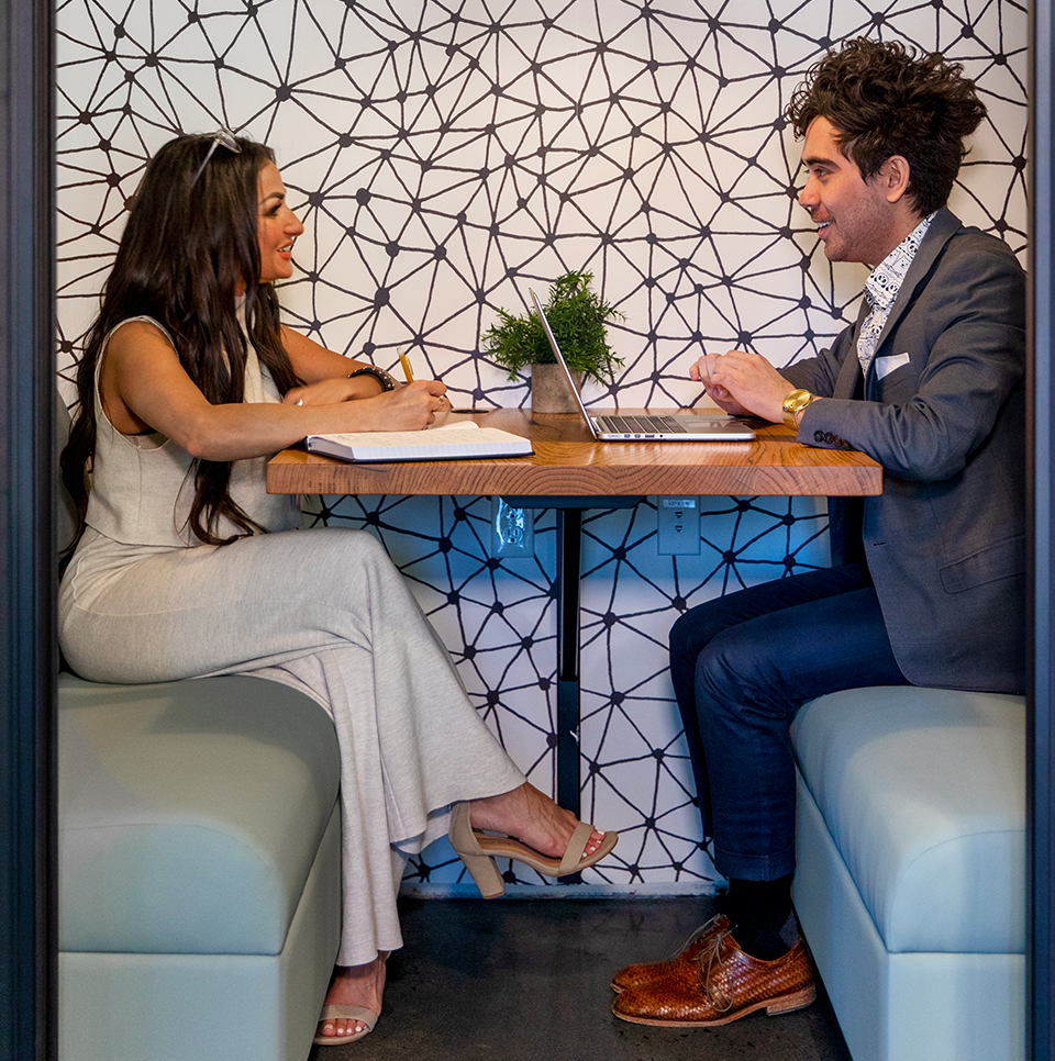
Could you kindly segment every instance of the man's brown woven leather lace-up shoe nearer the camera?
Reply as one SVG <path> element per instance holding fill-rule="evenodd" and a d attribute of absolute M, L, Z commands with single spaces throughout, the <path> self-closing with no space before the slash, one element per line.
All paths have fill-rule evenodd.
<path fill-rule="evenodd" d="M 711 934 L 692 960 L 663 979 L 621 992 L 612 1013 L 633 1024 L 703 1028 L 729 1024 L 756 1009 L 769 1016 L 802 1009 L 817 997 L 813 969 L 800 939 L 782 958 L 745 954 L 725 931 Z"/>

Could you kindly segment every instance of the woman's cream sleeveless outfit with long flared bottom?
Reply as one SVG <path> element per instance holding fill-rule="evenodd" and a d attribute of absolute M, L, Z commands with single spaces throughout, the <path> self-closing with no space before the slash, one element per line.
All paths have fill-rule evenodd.
<path fill-rule="evenodd" d="M 171 342 L 156 321 L 134 320 Z M 266 493 L 260 457 L 234 464 L 231 493 L 271 533 L 201 544 L 187 523 L 192 458 L 160 434 L 122 435 L 110 424 L 101 366 L 102 357 L 87 528 L 59 590 L 69 666 L 100 682 L 253 674 L 320 703 L 341 748 L 337 962 L 396 950 L 407 857 L 446 833 L 452 803 L 508 792 L 523 773 L 374 537 L 296 529 L 298 499 Z M 245 395 L 280 400 L 252 347 Z"/>

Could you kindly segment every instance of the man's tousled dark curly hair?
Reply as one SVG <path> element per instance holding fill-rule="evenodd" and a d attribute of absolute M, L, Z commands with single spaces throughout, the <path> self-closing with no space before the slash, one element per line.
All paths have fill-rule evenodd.
<path fill-rule="evenodd" d="M 814 119 L 828 119 L 865 180 L 891 155 L 903 155 L 908 194 L 925 216 L 945 205 L 967 154 L 965 141 L 986 108 L 960 64 L 937 52 L 857 37 L 810 69 L 786 115 L 799 137 Z"/>

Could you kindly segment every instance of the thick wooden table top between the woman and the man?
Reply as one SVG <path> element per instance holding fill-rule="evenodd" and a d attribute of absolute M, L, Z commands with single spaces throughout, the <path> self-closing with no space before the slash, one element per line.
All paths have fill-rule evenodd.
<path fill-rule="evenodd" d="M 614 410 L 592 410 L 609 413 Z M 631 410 L 620 412 L 663 412 Z M 690 414 L 691 410 L 684 411 Z M 698 411 L 697 411 L 698 412 Z M 860 496 L 882 492 L 870 457 L 815 449 L 782 425 L 751 443 L 597 443 L 575 414 L 530 409 L 447 413 L 531 438 L 533 457 L 356 465 L 286 449 L 267 466 L 269 493 L 536 496 Z"/>

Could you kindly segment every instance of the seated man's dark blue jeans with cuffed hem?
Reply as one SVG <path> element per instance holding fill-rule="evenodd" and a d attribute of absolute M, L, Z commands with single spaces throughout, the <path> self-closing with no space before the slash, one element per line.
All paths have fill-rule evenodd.
<path fill-rule="evenodd" d="M 906 685 L 867 568 L 797 574 L 708 601 L 670 630 L 670 677 L 703 833 L 725 876 L 795 870 L 788 727 L 814 696 Z"/>

